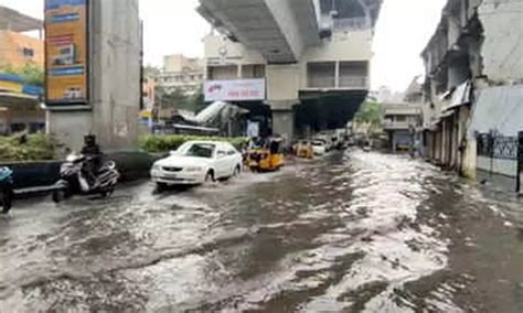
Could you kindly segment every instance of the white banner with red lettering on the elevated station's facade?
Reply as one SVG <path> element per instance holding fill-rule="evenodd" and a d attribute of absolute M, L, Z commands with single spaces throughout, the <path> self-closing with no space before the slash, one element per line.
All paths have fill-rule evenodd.
<path fill-rule="evenodd" d="M 265 79 L 207 80 L 205 101 L 265 100 Z"/>

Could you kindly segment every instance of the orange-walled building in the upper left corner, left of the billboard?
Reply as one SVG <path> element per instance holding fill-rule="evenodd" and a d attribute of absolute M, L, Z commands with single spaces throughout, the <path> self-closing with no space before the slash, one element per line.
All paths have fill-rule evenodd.
<path fill-rule="evenodd" d="M 0 7 L 0 67 L 21 67 L 26 63 L 44 66 L 43 23 L 14 10 Z M 25 32 L 38 31 L 40 37 Z"/>

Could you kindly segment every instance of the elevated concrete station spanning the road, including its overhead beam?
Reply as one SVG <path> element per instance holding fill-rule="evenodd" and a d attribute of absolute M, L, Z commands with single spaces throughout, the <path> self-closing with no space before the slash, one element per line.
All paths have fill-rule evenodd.
<path fill-rule="evenodd" d="M 200 3 L 221 33 L 204 39 L 207 101 L 248 108 L 289 141 L 344 127 L 364 101 L 381 0 Z"/>

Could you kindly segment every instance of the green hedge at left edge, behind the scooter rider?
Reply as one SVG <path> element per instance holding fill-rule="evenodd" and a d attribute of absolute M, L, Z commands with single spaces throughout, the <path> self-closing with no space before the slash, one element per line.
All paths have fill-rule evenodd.
<path fill-rule="evenodd" d="M 45 134 L 28 136 L 21 143 L 21 136 L 0 137 L 0 162 L 42 161 L 56 156 L 57 142 Z"/>

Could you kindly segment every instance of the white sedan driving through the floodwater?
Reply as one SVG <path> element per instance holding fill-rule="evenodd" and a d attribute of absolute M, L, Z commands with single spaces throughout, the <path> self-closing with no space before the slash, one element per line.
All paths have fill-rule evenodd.
<path fill-rule="evenodd" d="M 157 161 L 151 177 L 159 188 L 200 185 L 239 175 L 242 154 L 228 142 L 189 141 L 169 158 Z"/>

